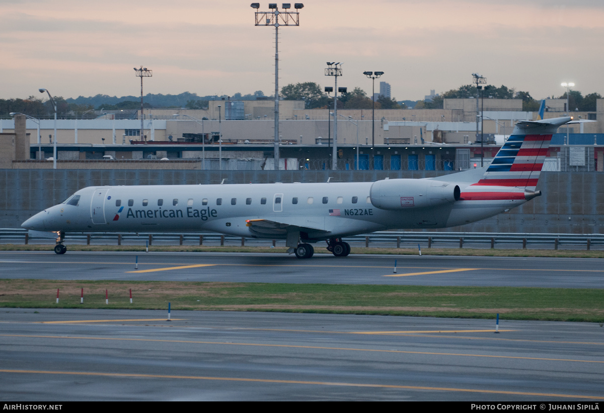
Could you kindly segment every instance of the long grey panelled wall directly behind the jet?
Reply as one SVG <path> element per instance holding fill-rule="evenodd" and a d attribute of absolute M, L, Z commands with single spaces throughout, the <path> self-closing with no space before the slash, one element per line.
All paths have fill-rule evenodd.
<path fill-rule="evenodd" d="M 0 169 L 0 227 L 18 228 L 35 213 L 92 185 L 375 181 L 435 177 L 434 171 L 177 171 Z M 604 233 L 604 180 L 597 172 L 542 172 L 544 195 L 493 218 L 452 231 Z"/>

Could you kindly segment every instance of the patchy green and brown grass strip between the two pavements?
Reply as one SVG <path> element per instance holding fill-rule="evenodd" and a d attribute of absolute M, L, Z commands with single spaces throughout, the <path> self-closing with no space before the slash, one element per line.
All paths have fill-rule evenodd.
<path fill-rule="evenodd" d="M 57 288 L 60 290 L 56 304 Z M 84 288 L 84 304 L 80 291 Z M 133 304 L 129 302 L 132 288 Z M 105 290 L 109 304 L 105 304 Z M 604 289 L 0 279 L 0 307 L 279 311 L 604 323 Z"/>

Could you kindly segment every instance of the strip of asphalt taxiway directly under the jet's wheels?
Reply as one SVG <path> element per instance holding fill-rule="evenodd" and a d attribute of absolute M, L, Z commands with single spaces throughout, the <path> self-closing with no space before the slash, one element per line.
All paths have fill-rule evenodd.
<path fill-rule="evenodd" d="M 604 288 L 604 264 L 596 258 L 315 254 L 297 259 L 262 253 L 0 252 L 0 273 L 0 278 L 64 280 Z"/>

